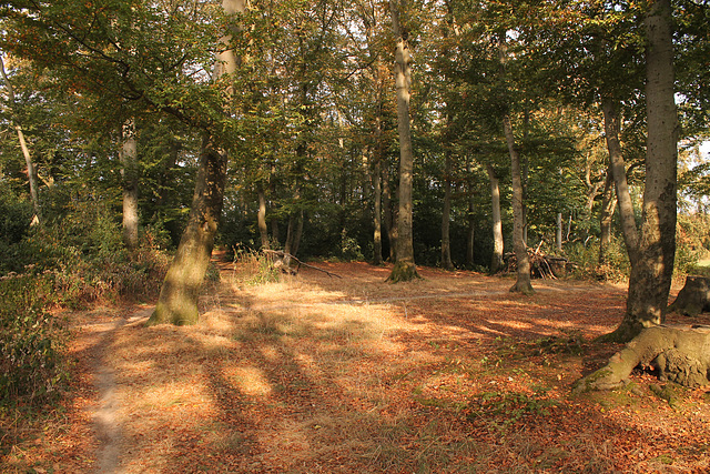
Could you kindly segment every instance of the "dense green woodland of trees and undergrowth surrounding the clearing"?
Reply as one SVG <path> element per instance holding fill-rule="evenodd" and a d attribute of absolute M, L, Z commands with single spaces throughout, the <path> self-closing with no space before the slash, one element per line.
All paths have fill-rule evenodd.
<path fill-rule="evenodd" d="M 3 403 L 65 380 L 50 307 L 156 297 L 209 157 L 225 167 L 214 239 L 235 256 L 395 262 L 398 42 L 417 264 L 503 269 L 515 149 L 528 248 L 623 280 L 609 105 L 640 222 L 655 3 L 0 2 Z M 671 7 L 681 276 L 710 250 L 710 18 L 704 1 Z"/>

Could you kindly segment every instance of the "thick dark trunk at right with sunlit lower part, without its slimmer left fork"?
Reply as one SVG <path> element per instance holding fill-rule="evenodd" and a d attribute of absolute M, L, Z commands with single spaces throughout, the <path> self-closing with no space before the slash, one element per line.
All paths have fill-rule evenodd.
<path fill-rule="evenodd" d="M 665 322 L 676 255 L 678 115 L 670 0 L 653 1 L 649 9 L 646 18 L 646 188 L 626 314 L 613 333 L 613 339 L 622 341 L 632 339 L 643 327 Z"/>

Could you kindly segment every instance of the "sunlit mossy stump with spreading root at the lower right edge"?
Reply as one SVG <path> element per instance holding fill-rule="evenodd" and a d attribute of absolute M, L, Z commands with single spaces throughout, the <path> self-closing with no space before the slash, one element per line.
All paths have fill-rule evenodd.
<path fill-rule="evenodd" d="M 653 366 L 661 381 L 696 387 L 709 383 L 710 326 L 647 327 L 597 372 L 577 381 L 574 392 L 612 390 L 628 383 L 638 365 Z"/>

